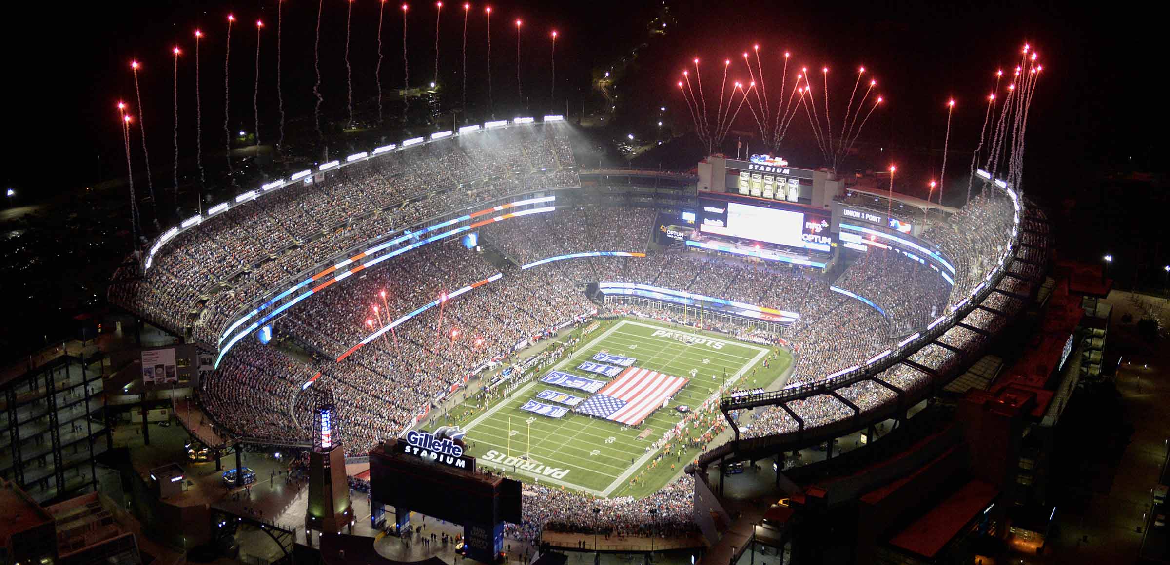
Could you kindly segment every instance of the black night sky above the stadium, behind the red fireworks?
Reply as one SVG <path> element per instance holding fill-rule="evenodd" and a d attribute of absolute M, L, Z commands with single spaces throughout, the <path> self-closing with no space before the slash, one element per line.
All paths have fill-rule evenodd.
<path fill-rule="evenodd" d="M 429 81 L 433 75 L 434 6 L 412 1 L 410 50 L 412 82 Z M 461 2 L 443 8 L 440 73 L 453 87 L 459 85 Z M 944 5 L 945 4 L 945 5 Z M 324 111 L 329 117 L 345 112 L 345 2 L 324 2 L 322 22 L 322 74 Z M 1133 157 L 1138 167 L 1148 167 L 1152 153 L 1151 129 L 1164 117 L 1156 104 L 1157 90 L 1149 88 L 1156 68 L 1150 55 L 1157 53 L 1151 19 L 1129 9 L 1106 13 L 1082 11 L 1068 2 L 989 2 L 966 7 L 949 2 L 817 2 L 815 7 L 776 2 L 672 1 L 674 27 L 661 37 L 647 41 L 645 28 L 656 15 L 656 2 L 525 2 L 494 5 L 493 62 L 497 106 L 516 104 L 515 27 L 523 18 L 523 69 L 532 105 L 550 106 L 549 39 L 556 27 L 558 89 L 567 94 L 570 111 L 579 108 L 589 91 L 590 73 L 605 68 L 629 48 L 647 41 L 633 69 L 618 91 L 631 96 L 628 104 L 646 106 L 667 103 L 672 111 L 686 110 L 672 90 L 673 75 L 691 56 L 713 63 L 725 56 L 735 60 L 753 42 L 763 53 L 793 51 L 793 61 L 819 67 L 846 69 L 865 64 L 880 81 L 879 89 L 889 101 L 879 110 L 862 142 L 889 144 L 896 152 L 913 153 L 942 140 L 945 125 L 944 103 L 957 101 L 952 144 L 973 146 L 983 118 L 983 99 L 992 85 L 996 68 L 1010 69 L 1013 53 L 1028 41 L 1045 60 L 1046 76 L 1034 103 L 1028 129 L 1028 180 L 1033 173 L 1076 177 L 1101 166 L 1110 168 Z M 22 9 L 44 5 L 23 5 Z M 373 92 L 374 33 L 377 2 L 355 2 L 351 64 L 356 99 Z M 486 105 L 483 4 L 473 6 L 469 25 L 469 98 Z M 311 115 L 312 40 L 317 2 L 284 2 L 283 90 L 289 119 Z M 47 145 L 29 147 L 71 147 L 83 157 L 67 171 L 53 177 L 49 190 L 94 182 L 124 174 L 124 158 L 117 126 L 115 102 L 132 102 L 128 62 L 139 58 L 146 126 L 152 147 L 152 166 L 171 161 L 171 78 L 170 49 L 179 44 L 180 57 L 180 153 L 193 151 L 193 41 L 201 27 L 207 37 L 201 47 L 201 87 L 205 151 L 222 146 L 222 82 L 225 16 L 238 15 L 233 29 L 230 125 L 252 123 L 254 21 L 266 22 L 262 46 L 261 112 L 262 137 L 275 135 L 275 30 L 273 1 L 238 2 L 128 2 L 110 5 L 85 2 L 62 7 L 49 22 L 43 13 L 29 12 L 33 28 L 46 32 L 32 35 L 8 34 L 9 96 L 14 104 L 13 129 L 33 133 L 32 142 Z M 35 23 L 34 23 L 35 22 Z M 384 22 L 384 88 L 401 83 L 401 12 L 388 2 Z M 734 68 L 734 67 L 732 67 Z M 715 67 L 709 68 L 710 77 Z M 743 73 L 739 73 L 743 74 Z M 835 76 L 835 75 L 834 75 Z M 1137 78 L 1144 78 L 1138 81 Z M 710 78 L 709 78 L 710 80 Z M 775 78 L 773 78 L 775 80 Z M 1145 87 L 1141 87 L 1144 84 Z M 40 87 L 39 87 L 40 85 Z M 833 87 L 833 85 L 831 85 Z M 23 94 L 20 94 L 20 91 Z M 837 85 L 833 91 L 847 91 Z M 558 108 L 564 103 L 559 101 Z M 597 98 L 593 95 L 593 98 Z M 596 102 L 596 99 L 594 99 Z M 1157 109 L 1157 110 L 1156 110 Z M 534 113 L 539 113 L 534 111 Z M 742 113 L 737 129 L 752 130 L 750 116 Z M 800 122 L 798 122 L 800 123 Z M 806 126 L 807 124 L 804 123 Z M 252 128 L 247 128 L 250 130 Z M 43 138 L 43 139 L 37 139 Z M 790 144 L 810 144 L 807 129 L 790 135 Z M 797 150 L 799 151 L 799 150 Z M 29 150 L 28 153 L 36 153 Z M 105 159 L 98 166 L 97 154 Z M 697 156 L 696 156 L 697 157 Z M 36 157 L 33 157 L 37 160 Z M 910 156 L 902 160 L 911 159 Z M 22 160 L 22 159 L 21 159 Z M 1161 166 L 1154 161 L 1155 167 Z M 6 171 L 7 181 L 16 185 L 43 182 L 34 168 Z"/>

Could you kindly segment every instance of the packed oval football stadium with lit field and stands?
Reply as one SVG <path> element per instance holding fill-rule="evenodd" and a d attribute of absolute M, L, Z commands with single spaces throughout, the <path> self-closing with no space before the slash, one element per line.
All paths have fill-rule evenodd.
<path fill-rule="evenodd" d="M 110 301 L 209 356 L 233 442 L 310 446 L 319 391 L 349 456 L 457 425 L 535 539 L 707 528 L 732 463 L 904 420 L 1042 281 L 1044 213 L 982 170 L 948 208 L 770 156 L 581 170 L 576 135 L 521 117 L 290 172 L 163 233 Z"/>

